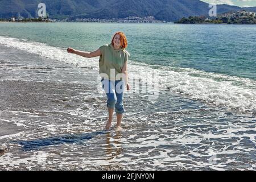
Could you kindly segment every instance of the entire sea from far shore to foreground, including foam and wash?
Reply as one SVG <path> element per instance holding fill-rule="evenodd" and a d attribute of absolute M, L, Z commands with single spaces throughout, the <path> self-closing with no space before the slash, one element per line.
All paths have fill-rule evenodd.
<path fill-rule="evenodd" d="M 255 170 L 255 28 L 0 23 L 0 169 Z M 98 57 L 66 48 L 92 51 L 118 30 L 133 89 L 124 130 L 106 132 Z M 157 98 L 139 92 L 158 81 Z"/>

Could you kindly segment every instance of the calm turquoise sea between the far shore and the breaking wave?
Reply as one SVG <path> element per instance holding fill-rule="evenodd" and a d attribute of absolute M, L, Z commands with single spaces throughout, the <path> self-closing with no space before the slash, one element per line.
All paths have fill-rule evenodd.
<path fill-rule="evenodd" d="M 256 79 L 256 26 L 226 24 L 0 23 L 0 36 L 93 51 L 115 31 L 127 35 L 130 59 Z"/>

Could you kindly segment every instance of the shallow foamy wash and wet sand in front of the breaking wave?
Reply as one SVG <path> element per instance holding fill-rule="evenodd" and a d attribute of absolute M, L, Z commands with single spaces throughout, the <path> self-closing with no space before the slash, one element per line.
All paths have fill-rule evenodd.
<path fill-rule="evenodd" d="M 1 47 L 0 169 L 256 169 L 254 117 L 168 90 L 153 101 L 125 93 L 124 130 L 114 130 L 114 115 L 106 132 L 97 71 Z"/>

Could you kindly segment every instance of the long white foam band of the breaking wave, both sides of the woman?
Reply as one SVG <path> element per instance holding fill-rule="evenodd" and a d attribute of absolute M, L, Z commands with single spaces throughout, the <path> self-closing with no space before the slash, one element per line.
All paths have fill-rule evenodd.
<path fill-rule="evenodd" d="M 67 53 L 64 48 L 52 47 L 37 42 L 27 42 L 15 38 L 0 36 L 0 44 L 6 47 L 17 48 L 53 60 L 63 61 L 78 67 L 98 69 L 98 58 L 86 59 L 81 56 Z M 207 73 L 189 68 L 160 67 L 152 68 L 147 64 L 133 64 L 129 61 L 129 77 L 140 78 L 142 82 L 152 84 L 156 81 L 151 75 L 158 74 L 160 89 L 170 89 L 214 105 L 221 105 L 229 109 L 242 112 L 256 113 L 256 81 L 249 78 Z M 136 90 L 136 89 L 134 89 Z"/>

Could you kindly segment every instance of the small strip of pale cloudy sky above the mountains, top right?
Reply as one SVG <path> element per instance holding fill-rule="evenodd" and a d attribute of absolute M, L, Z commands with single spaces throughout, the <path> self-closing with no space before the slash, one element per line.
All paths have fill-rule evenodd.
<path fill-rule="evenodd" d="M 236 5 L 240 7 L 252 7 L 256 6 L 256 0 L 201 0 L 212 4 L 227 4 Z"/>

